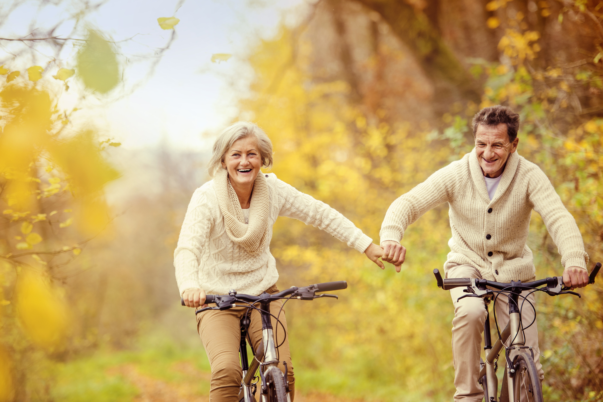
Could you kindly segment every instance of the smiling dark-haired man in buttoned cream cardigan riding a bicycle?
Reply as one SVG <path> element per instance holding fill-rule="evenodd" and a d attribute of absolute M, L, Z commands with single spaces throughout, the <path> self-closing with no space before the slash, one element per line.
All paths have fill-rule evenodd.
<path fill-rule="evenodd" d="M 548 177 L 537 165 L 517 155 L 519 115 L 509 107 L 485 107 L 473 117 L 475 148 L 460 161 L 436 171 L 425 182 L 395 200 L 385 215 L 380 240 L 383 260 L 400 272 L 406 249 L 400 244 L 408 225 L 440 203 L 449 203 L 452 238 L 444 272 L 447 278 L 482 278 L 497 282 L 535 279 L 532 251 L 526 245 L 532 209 L 541 215 L 557 244 L 564 266 L 563 281 L 573 288 L 586 286 L 588 255 L 572 215 L 561 203 Z M 527 292 L 524 293 L 526 295 Z M 481 334 L 486 311 L 477 298 L 457 299 L 463 289 L 450 291 L 455 307 L 452 354 L 455 401 L 481 401 L 478 384 Z M 503 300 L 504 299 L 504 300 Z M 534 295 L 527 298 L 534 304 Z M 499 297 L 496 314 L 503 328 L 508 322 L 506 297 Z M 532 322 L 534 311 L 523 308 L 522 321 Z M 527 346 L 534 346 L 536 367 L 543 378 L 538 353 L 538 330 L 525 330 Z"/>

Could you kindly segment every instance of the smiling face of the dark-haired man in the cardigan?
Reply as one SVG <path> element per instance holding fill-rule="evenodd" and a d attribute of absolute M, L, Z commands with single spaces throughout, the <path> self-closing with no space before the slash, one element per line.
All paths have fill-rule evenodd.
<path fill-rule="evenodd" d="M 475 153 L 485 177 L 498 177 L 505 170 L 511 153 L 517 149 L 519 138 L 509 141 L 507 124 L 484 126 L 479 124 L 475 132 Z"/>

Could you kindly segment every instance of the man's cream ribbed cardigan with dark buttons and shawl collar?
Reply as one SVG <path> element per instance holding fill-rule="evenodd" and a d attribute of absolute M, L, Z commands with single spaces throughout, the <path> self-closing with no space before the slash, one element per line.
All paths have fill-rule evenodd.
<path fill-rule="evenodd" d="M 589 256 L 575 220 L 545 173 L 512 153 L 490 200 L 475 148 L 396 199 L 385 215 L 380 241 L 400 241 L 421 215 L 440 203 L 450 205 L 452 238 L 444 272 L 470 264 L 482 278 L 498 282 L 535 278 L 532 250 L 526 245 L 532 209 L 543 218 L 564 267 L 586 269 Z"/>

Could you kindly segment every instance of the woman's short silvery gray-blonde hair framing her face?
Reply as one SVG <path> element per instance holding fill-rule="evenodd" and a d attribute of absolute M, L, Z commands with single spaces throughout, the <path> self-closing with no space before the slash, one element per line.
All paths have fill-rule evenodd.
<path fill-rule="evenodd" d="M 224 155 L 232 147 L 236 140 L 254 136 L 257 139 L 257 147 L 259 147 L 260 156 L 262 157 L 262 167 L 272 167 L 272 141 L 266 135 L 264 130 L 260 129 L 255 123 L 250 121 L 237 121 L 226 127 L 223 132 L 218 135 L 216 141 L 213 142 L 212 159 L 207 164 L 209 176 L 213 175 L 221 167 L 224 161 Z"/>

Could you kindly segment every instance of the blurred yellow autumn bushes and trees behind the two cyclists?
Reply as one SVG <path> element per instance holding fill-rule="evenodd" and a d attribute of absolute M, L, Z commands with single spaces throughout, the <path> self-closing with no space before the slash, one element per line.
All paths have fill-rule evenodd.
<path fill-rule="evenodd" d="M 602 5 L 312 2 L 299 24 L 250 50 L 254 80 L 239 96 L 239 118 L 271 137 L 280 179 L 378 243 L 390 203 L 471 150 L 475 112 L 507 104 L 522 118 L 520 155 L 543 168 L 591 261 L 601 261 Z M 74 78 L 58 65 L 0 71 L 0 400 L 126 401 L 152 387 L 147 377 L 198 382 L 179 395 L 207 395 L 208 366 L 191 311 L 178 307 L 172 252 L 191 194 L 207 180 L 209 150 L 124 150 L 67 124 L 73 111 L 56 109 L 57 88 L 77 79 L 100 97 L 120 85 L 113 44 L 93 31 L 86 38 Z M 90 49 L 108 55 L 107 65 Z M 441 205 L 408 229 L 396 274 L 318 229 L 277 221 L 281 289 L 349 282 L 338 301 L 287 305 L 300 394 L 452 400 L 453 309 L 431 275 L 449 237 Z M 529 246 L 538 277 L 560 275 L 537 214 Z M 551 400 L 603 398 L 603 290 L 581 293 L 538 295 Z"/>

